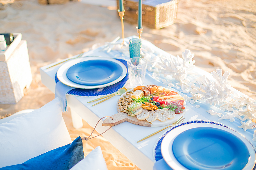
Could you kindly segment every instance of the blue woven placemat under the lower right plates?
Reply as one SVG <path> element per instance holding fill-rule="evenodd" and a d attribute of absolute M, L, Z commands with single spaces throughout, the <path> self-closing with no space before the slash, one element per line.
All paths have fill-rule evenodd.
<path fill-rule="evenodd" d="M 189 121 L 189 122 L 184 122 L 184 123 L 181 123 L 181 124 L 178 124 L 177 126 L 174 126 L 172 127 L 171 129 L 167 130 L 163 135 L 161 135 L 159 137 L 159 139 L 157 140 L 156 144 L 155 144 L 155 147 L 154 147 L 154 157 L 155 157 L 155 161 L 159 161 L 161 159 L 163 159 L 163 156 L 162 156 L 162 153 L 161 153 L 161 143 L 164 139 L 164 137 L 168 134 L 168 132 L 170 132 L 171 130 L 175 129 L 176 127 L 179 127 L 179 126 L 182 126 L 182 125 L 186 125 L 186 124 L 191 124 L 191 123 L 210 123 L 210 124 L 215 124 L 215 125 L 220 125 L 220 126 L 223 126 L 223 127 L 226 127 L 226 128 L 229 128 L 231 130 L 234 130 L 228 126 L 225 126 L 219 122 L 213 122 L 213 121 L 204 121 L 204 120 L 193 120 L 193 121 Z M 236 130 L 234 130 L 236 132 Z M 237 132 L 238 133 L 238 132 Z M 240 134 L 240 133 L 238 133 Z M 242 135 L 242 134 L 240 134 Z M 243 135 L 242 135 L 243 136 Z M 244 137 L 244 136 L 243 136 Z M 245 138 L 245 137 L 244 137 Z M 248 140 L 248 139 L 247 139 Z M 248 140 L 249 141 L 249 140 Z M 250 141 L 249 141 L 250 142 Z M 251 142 L 250 142 L 251 143 Z M 253 146 L 254 150 L 256 150 L 255 146 L 251 143 L 251 145 Z M 255 169 L 256 166 L 253 168 Z"/>

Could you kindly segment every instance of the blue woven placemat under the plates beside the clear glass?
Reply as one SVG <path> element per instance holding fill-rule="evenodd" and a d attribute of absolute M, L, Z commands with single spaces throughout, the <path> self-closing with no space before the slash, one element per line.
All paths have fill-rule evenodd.
<path fill-rule="evenodd" d="M 76 96 L 101 96 L 101 95 L 108 95 L 118 91 L 120 88 L 122 88 L 125 85 L 125 83 L 129 79 L 129 74 L 128 74 L 127 61 L 122 59 L 116 59 L 116 60 L 121 61 L 127 69 L 126 76 L 120 82 L 110 86 L 101 87 L 101 88 L 93 88 L 93 89 L 75 88 L 70 90 L 67 94 L 76 95 Z M 59 82 L 59 79 L 57 78 L 57 73 L 55 75 L 55 82 L 56 83 Z"/>

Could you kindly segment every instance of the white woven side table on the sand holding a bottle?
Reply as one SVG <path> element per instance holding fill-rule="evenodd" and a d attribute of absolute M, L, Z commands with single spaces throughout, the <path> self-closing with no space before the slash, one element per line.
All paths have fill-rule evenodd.
<path fill-rule="evenodd" d="M 0 60 L 0 104 L 17 103 L 32 82 L 27 41 L 21 40 L 21 35 L 19 41 L 11 54 Z"/>

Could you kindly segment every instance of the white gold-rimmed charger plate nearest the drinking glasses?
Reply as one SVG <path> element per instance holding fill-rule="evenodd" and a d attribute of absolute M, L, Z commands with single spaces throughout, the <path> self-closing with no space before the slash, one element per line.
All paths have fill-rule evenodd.
<path fill-rule="evenodd" d="M 83 62 L 83 61 L 88 61 L 88 60 L 106 60 L 106 61 L 112 61 L 112 62 L 115 62 L 117 64 L 119 64 L 121 67 L 122 67 L 122 74 L 121 76 L 112 81 L 112 82 L 109 82 L 109 83 L 106 83 L 106 84 L 102 84 L 102 85 L 81 85 L 81 84 L 77 84 L 77 83 L 74 83 L 72 82 L 71 80 L 68 79 L 67 77 L 67 71 L 70 67 L 72 67 L 74 64 L 77 64 L 77 63 L 80 63 L 80 62 Z M 76 87 L 76 88 L 84 88 L 84 89 L 92 89 L 92 88 L 100 88 L 100 87 L 106 87 L 106 86 L 110 86 L 110 85 L 113 85 L 115 83 L 118 83 L 119 81 L 121 81 L 125 76 L 126 76 L 126 73 L 127 73 L 127 69 L 125 67 L 125 65 L 116 60 L 116 59 L 113 59 L 113 58 L 102 58 L 102 57 L 85 57 L 85 58 L 77 58 L 77 59 L 73 59 L 65 64 L 63 64 L 62 66 L 60 66 L 60 68 L 58 69 L 57 71 L 57 77 L 59 79 L 59 81 L 67 86 L 70 86 L 70 87 Z"/>

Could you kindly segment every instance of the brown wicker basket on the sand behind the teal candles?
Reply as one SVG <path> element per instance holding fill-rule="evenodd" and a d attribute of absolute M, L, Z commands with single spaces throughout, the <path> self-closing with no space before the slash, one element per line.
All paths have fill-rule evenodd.
<path fill-rule="evenodd" d="M 116 0 L 119 8 L 119 0 Z M 123 0 L 124 20 L 137 23 L 138 0 Z M 142 25 L 160 29 L 175 23 L 178 0 L 145 0 L 142 1 Z M 118 14 L 119 17 L 119 14 Z"/>

